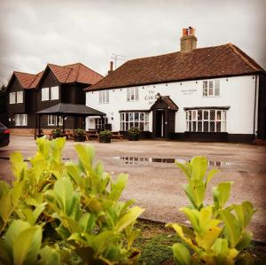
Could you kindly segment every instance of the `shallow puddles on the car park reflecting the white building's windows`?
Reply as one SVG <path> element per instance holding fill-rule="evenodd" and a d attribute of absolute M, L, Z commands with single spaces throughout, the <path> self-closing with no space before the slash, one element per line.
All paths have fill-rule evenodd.
<path fill-rule="evenodd" d="M 120 160 L 121 165 L 137 165 L 140 163 L 165 163 L 165 164 L 173 164 L 176 162 L 184 163 L 185 161 L 189 160 L 180 160 L 178 158 L 145 158 L 145 157 L 132 157 L 132 156 L 120 156 L 120 157 L 113 157 L 114 160 Z M 208 166 L 214 168 L 222 168 L 232 166 L 234 163 L 226 162 L 221 160 L 208 160 Z"/>

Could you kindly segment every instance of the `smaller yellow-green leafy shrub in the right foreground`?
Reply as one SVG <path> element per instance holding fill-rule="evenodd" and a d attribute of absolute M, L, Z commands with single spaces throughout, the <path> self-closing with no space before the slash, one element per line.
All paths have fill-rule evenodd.
<path fill-rule="evenodd" d="M 252 239 L 246 227 L 254 214 L 249 201 L 225 207 L 230 197 L 231 182 L 218 183 L 213 188 L 213 205 L 204 206 L 207 184 L 218 170 L 207 173 L 207 159 L 195 157 L 185 164 L 176 163 L 187 177 L 184 185 L 191 206 L 182 207 L 192 229 L 177 223 L 168 226 L 176 230 L 183 243 L 172 246 L 177 264 L 253 264 L 249 253 L 243 252 Z M 192 254 L 191 254 L 192 253 Z"/>

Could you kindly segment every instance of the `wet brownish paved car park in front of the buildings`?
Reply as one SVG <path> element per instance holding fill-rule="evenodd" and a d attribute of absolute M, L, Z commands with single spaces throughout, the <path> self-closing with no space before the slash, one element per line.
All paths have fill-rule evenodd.
<path fill-rule="evenodd" d="M 76 160 L 74 141 L 67 140 L 63 157 Z M 96 148 L 96 160 L 103 160 L 106 171 L 113 176 L 129 174 L 129 184 L 123 199 L 137 199 L 145 207 L 144 218 L 160 222 L 184 222 L 178 208 L 188 204 L 182 185 L 184 175 L 176 168 L 177 160 L 207 156 L 210 168 L 221 172 L 212 180 L 233 181 L 231 203 L 251 200 L 258 211 L 250 229 L 256 240 L 266 241 L 266 146 L 252 144 L 188 143 L 145 140 L 129 142 L 114 140 L 112 144 L 86 142 Z M 11 136 L 9 146 L 0 149 L 0 178 L 11 180 L 8 157 L 21 151 L 25 158 L 35 155 L 35 141 L 29 136 Z M 212 200 L 211 189 L 207 201 Z"/>

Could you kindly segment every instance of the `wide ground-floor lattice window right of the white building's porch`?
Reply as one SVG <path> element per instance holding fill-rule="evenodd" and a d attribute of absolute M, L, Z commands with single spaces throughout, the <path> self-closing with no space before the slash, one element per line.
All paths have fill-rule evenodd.
<path fill-rule="evenodd" d="M 189 110 L 185 116 L 187 131 L 226 132 L 225 110 Z"/>

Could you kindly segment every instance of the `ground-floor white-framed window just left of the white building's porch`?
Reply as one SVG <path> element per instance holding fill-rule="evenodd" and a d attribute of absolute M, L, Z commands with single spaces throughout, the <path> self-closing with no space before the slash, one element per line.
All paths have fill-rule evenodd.
<path fill-rule="evenodd" d="M 127 131 L 131 127 L 149 130 L 149 113 L 120 113 L 121 130 Z"/>

